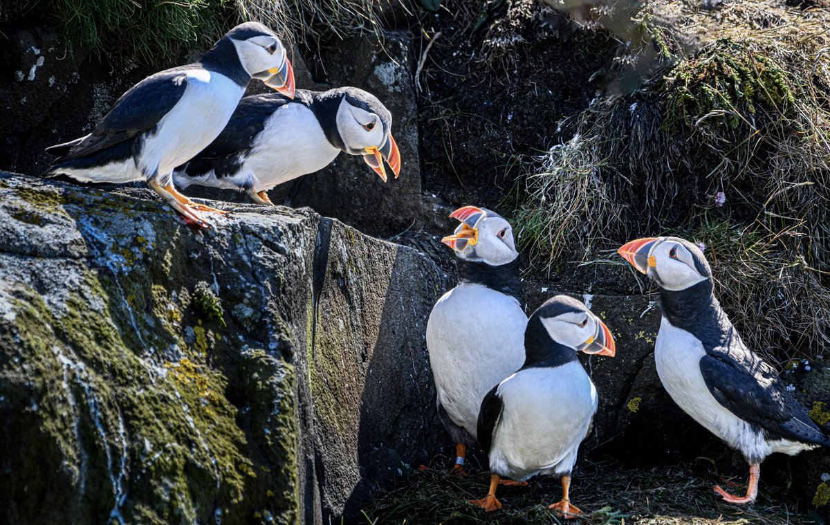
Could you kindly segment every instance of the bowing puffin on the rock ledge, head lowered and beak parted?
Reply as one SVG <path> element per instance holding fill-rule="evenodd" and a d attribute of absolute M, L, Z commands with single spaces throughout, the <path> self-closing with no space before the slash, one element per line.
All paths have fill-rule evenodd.
<path fill-rule="evenodd" d="M 173 180 L 183 189 L 245 191 L 255 203 L 272 205 L 269 189 L 323 169 L 345 151 L 362 156 L 385 183 L 384 160 L 396 179 L 401 169 L 391 129 L 389 110 L 356 87 L 247 96 L 216 140 L 173 171 Z"/>

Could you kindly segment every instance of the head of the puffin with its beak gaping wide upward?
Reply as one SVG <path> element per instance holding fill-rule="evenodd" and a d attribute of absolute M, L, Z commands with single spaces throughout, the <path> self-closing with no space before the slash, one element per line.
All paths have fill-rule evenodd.
<path fill-rule="evenodd" d="M 465 206 L 450 214 L 461 225 L 441 242 L 456 251 L 458 258 L 501 266 L 519 257 L 513 240 L 513 228 L 504 217 L 489 209 Z"/>

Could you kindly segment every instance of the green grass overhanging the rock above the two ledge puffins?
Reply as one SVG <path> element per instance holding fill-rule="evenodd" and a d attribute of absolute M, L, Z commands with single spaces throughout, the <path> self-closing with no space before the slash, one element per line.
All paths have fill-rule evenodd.
<path fill-rule="evenodd" d="M 0 6 L 0 23 L 46 23 L 70 47 L 156 64 L 204 51 L 239 22 L 255 20 L 288 42 L 377 32 L 380 0 L 23 0 Z"/>

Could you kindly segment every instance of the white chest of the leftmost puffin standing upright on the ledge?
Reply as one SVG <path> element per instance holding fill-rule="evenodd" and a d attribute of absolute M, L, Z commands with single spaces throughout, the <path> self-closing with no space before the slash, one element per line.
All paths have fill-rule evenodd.
<path fill-rule="evenodd" d="M 137 164 L 145 174 L 167 174 L 192 159 L 222 132 L 237 108 L 242 86 L 206 70 L 187 73 L 187 88 L 156 132 L 145 136 Z"/>

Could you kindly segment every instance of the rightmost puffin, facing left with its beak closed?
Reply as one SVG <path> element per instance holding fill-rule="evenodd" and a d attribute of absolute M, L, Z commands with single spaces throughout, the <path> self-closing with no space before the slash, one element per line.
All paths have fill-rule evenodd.
<path fill-rule="evenodd" d="M 772 366 L 741 340 L 713 293 L 709 263 L 682 238 L 639 238 L 618 253 L 657 284 L 662 319 L 654 347 L 657 375 L 693 420 L 739 450 L 749 463 L 744 496 L 715 485 L 728 503 L 754 502 L 760 464 L 776 452 L 795 455 L 830 445 Z"/>

